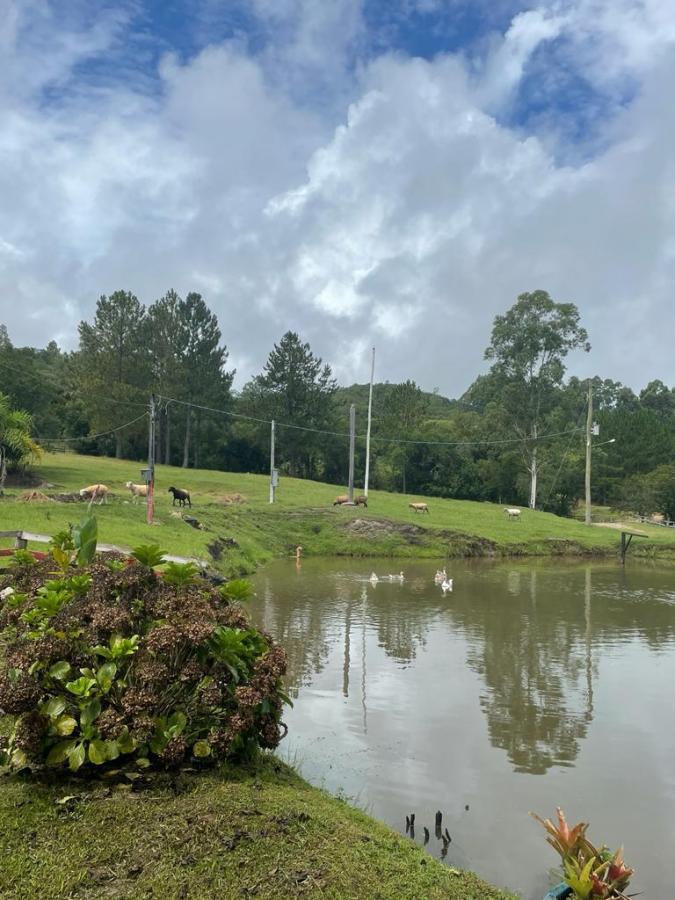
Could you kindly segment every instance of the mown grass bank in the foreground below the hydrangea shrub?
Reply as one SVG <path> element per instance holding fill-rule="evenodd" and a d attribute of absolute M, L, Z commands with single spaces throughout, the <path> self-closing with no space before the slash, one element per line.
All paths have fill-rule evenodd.
<path fill-rule="evenodd" d="M 0 898 L 506 900 L 310 787 L 255 771 L 135 786 L 0 782 Z"/>

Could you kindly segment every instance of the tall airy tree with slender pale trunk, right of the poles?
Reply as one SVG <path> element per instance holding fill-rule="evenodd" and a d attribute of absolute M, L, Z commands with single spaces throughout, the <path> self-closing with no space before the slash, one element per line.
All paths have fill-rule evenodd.
<path fill-rule="evenodd" d="M 501 387 L 504 413 L 520 439 L 532 509 L 537 502 L 541 425 L 562 385 L 563 360 L 576 349 L 590 350 L 576 306 L 556 303 L 546 291 L 533 291 L 520 294 L 511 309 L 495 318 L 485 351 L 485 358 L 494 360 L 490 372 Z"/>

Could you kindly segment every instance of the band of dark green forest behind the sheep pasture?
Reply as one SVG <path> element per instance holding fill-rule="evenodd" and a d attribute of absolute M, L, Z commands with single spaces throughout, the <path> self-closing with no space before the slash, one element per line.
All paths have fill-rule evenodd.
<path fill-rule="evenodd" d="M 571 350 L 590 351 L 577 308 L 534 291 L 496 317 L 490 368 L 462 397 L 375 384 L 370 486 L 570 514 L 584 490 L 588 402 L 588 381 L 566 372 Z M 344 485 L 353 403 L 363 483 L 368 385 L 338 385 L 293 332 L 240 391 L 228 358 L 196 293 L 149 306 L 102 296 L 72 352 L 16 347 L 0 325 L 0 464 L 21 467 L 38 446 L 143 460 L 154 394 L 160 462 L 268 472 L 274 419 L 282 475 Z M 593 501 L 675 518 L 675 388 L 651 381 L 635 393 L 604 375 L 591 387 Z"/>

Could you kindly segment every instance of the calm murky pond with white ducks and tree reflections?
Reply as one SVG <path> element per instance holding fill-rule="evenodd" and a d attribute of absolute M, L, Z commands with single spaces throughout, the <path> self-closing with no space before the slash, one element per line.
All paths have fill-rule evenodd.
<path fill-rule="evenodd" d="M 403 582 L 368 581 L 405 572 Z M 282 745 L 450 865 L 541 900 L 557 857 L 528 811 L 623 843 L 631 889 L 675 895 L 675 568 L 303 560 L 255 578 L 255 621 L 287 650 Z M 280 751 L 281 752 L 281 751 Z M 451 835 L 444 854 L 437 810 Z"/>

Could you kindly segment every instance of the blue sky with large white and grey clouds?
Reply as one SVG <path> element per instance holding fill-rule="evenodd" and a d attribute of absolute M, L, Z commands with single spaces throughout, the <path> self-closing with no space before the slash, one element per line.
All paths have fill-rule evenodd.
<path fill-rule="evenodd" d="M 672 0 L 0 0 L 0 321 L 201 293 L 241 387 L 297 331 L 459 396 L 518 294 L 570 373 L 673 374 Z"/>

